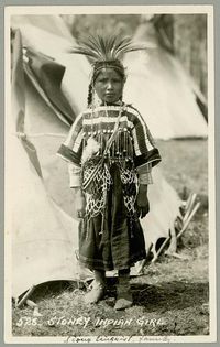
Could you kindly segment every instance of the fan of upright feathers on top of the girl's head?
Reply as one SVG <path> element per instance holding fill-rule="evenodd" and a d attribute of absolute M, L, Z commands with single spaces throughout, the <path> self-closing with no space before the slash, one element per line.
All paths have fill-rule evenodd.
<path fill-rule="evenodd" d="M 92 65 L 121 61 L 123 55 L 129 52 L 146 50 L 144 44 L 135 44 L 130 37 L 120 37 L 112 35 L 110 37 L 90 35 L 86 40 L 82 39 L 80 43 L 73 47 L 69 52 L 88 56 Z"/>

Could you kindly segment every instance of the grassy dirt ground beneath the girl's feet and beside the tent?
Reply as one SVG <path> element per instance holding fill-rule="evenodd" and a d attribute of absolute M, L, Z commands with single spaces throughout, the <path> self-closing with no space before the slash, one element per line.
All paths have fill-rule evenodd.
<path fill-rule="evenodd" d="M 201 206 L 178 242 L 183 259 L 162 254 L 132 278 L 134 305 L 116 312 L 116 279 L 97 305 L 85 305 L 86 288 L 55 282 L 32 295 L 42 316 L 13 307 L 14 336 L 179 336 L 209 334 L 208 173 L 206 140 L 160 141 L 162 169 L 180 196 L 195 192 Z"/>

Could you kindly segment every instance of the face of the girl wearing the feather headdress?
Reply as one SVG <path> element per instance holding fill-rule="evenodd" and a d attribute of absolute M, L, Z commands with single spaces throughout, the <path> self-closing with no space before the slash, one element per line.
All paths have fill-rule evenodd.
<path fill-rule="evenodd" d="M 107 104 L 117 102 L 122 97 L 124 79 L 113 68 L 102 68 L 95 82 L 98 97 Z"/>

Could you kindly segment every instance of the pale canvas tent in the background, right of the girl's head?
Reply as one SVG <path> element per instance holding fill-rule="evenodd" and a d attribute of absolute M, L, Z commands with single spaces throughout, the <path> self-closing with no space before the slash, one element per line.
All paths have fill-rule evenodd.
<path fill-rule="evenodd" d="M 177 57 L 160 45 L 152 21 L 138 28 L 134 40 L 151 42 L 154 48 L 127 55 L 124 97 L 135 100 L 157 139 L 207 137 L 207 122 L 196 102 L 206 99 Z"/>

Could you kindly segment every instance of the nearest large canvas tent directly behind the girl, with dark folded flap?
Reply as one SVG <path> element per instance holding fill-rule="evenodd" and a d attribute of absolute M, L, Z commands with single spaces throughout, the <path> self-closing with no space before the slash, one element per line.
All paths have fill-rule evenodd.
<path fill-rule="evenodd" d="M 73 39 L 66 34 L 61 18 L 16 17 L 12 28 L 20 29 L 21 34 L 16 31 L 13 44 L 12 112 L 7 113 L 6 167 L 10 174 L 6 195 L 12 241 L 12 296 L 18 297 L 31 285 L 91 276 L 77 261 L 78 221 L 73 218 L 75 206 L 66 163 L 56 156 L 70 122 L 86 101 L 89 64 L 66 53 Z M 37 40 L 32 40 L 33 36 Z M 57 68 L 51 71 L 45 66 Z M 55 80 L 57 89 L 50 95 L 50 78 L 45 76 L 52 76 L 48 72 L 54 71 L 61 72 L 57 78 L 62 83 Z M 19 180 L 14 180 L 14 172 Z M 167 237 L 182 205 L 158 169 L 154 170 L 148 194 L 151 213 L 142 220 L 147 249 L 160 237 Z"/>

